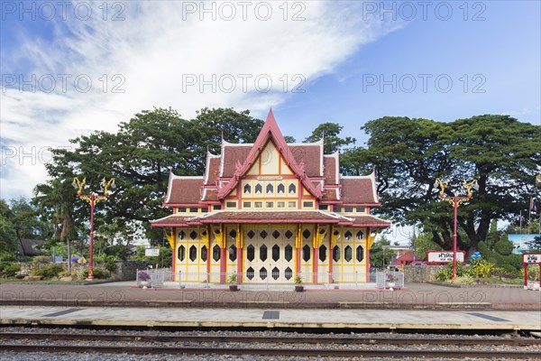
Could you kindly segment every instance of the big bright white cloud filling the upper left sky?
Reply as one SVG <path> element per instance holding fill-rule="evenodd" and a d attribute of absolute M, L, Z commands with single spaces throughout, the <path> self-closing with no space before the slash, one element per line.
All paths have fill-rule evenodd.
<path fill-rule="evenodd" d="M 256 12 L 259 3 L 249 2 L 243 20 L 240 2 L 228 3 L 230 8 L 224 2 L 206 3 L 206 9 L 215 7 L 215 21 L 213 14 L 201 12 L 201 4 L 108 3 L 104 20 L 103 4 L 96 3 L 85 21 L 73 12 L 67 20 L 57 16 L 50 39 L 24 32 L 18 49 L 3 58 L 5 69 L 16 69 L 15 63 L 24 60 L 31 64 L 24 79 L 33 74 L 37 85 L 52 90 L 32 92 L 26 86 L 20 91 L 19 84 L 2 88 L 2 197 L 30 196 L 32 187 L 45 180 L 41 160 L 46 157 L 37 162 L 22 157 L 32 147 L 65 146 L 79 134 L 115 131 L 119 122 L 153 106 L 172 106 L 184 117 L 204 106 L 249 108 L 264 116 L 270 106 L 293 96 L 293 87 L 303 82 L 301 88 L 307 89 L 362 44 L 399 26 L 361 21 L 354 15 L 360 12 L 357 2 L 289 2 L 287 14 L 282 2 L 267 2 L 272 14 L 266 21 L 261 20 L 264 4 Z M 236 16 L 226 21 L 232 8 Z M 124 21 L 112 21 L 119 11 Z M 295 14 L 305 20 L 293 21 Z M 78 91 L 75 79 L 78 88 L 86 88 L 87 79 L 92 85 Z M 201 89 L 203 79 L 215 79 L 215 87 Z M 187 80 L 197 83 L 190 86 Z M 261 92 L 267 85 L 269 91 Z"/>

